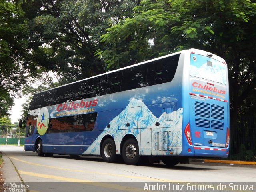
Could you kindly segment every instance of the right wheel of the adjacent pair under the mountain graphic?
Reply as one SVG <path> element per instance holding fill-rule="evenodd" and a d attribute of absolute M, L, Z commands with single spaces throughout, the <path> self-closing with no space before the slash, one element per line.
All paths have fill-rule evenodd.
<path fill-rule="evenodd" d="M 130 138 L 124 142 L 122 157 L 128 165 L 135 165 L 140 162 L 139 145 L 134 138 Z"/>

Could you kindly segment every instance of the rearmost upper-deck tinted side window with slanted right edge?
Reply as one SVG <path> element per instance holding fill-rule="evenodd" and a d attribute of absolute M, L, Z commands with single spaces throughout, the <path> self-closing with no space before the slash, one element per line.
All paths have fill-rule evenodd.
<path fill-rule="evenodd" d="M 180 54 L 148 63 L 148 86 L 172 81 L 179 58 Z"/>

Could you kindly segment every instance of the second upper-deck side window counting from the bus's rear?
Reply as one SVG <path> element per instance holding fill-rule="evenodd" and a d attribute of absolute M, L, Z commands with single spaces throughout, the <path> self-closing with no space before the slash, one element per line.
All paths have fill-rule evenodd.
<path fill-rule="evenodd" d="M 123 70 L 121 91 L 146 86 L 147 64 L 138 65 Z"/>

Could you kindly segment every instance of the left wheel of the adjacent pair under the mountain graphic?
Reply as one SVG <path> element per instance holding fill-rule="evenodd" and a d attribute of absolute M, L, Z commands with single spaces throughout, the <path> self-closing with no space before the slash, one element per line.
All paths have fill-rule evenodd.
<path fill-rule="evenodd" d="M 107 138 L 102 143 L 101 155 L 104 162 L 112 163 L 116 161 L 116 144 L 113 139 Z"/>

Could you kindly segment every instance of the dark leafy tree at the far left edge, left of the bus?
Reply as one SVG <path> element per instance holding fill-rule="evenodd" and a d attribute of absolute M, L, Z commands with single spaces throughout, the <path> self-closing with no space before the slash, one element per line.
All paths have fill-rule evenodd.
<path fill-rule="evenodd" d="M 0 0 L 0 116 L 8 114 L 14 92 L 26 82 L 27 28 L 21 2 Z"/>

